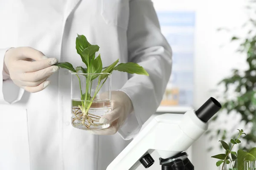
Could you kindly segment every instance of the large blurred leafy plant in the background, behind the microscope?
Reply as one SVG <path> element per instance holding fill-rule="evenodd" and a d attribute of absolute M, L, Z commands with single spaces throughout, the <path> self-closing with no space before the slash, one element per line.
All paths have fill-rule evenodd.
<path fill-rule="evenodd" d="M 251 1 L 251 3 L 255 1 Z M 253 4 L 250 4 L 252 7 Z M 255 9 L 255 8 L 254 8 Z M 246 35 L 233 36 L 231 42 L 239 42 L 239 49 L 237 52 L 246 55 L 247 69 L 233 69 L 229 77 L 222 79 L 218 85 L 224 85 L 225 90 L 223 93 L 224 101 L 222 101 L 222 110 L 230 113 L 237 113 L 241 116 L 241 120 L 252 124 L 252 129 L 247 132 L 244 137 L 246 147 L 239 146 L 241 149 L 248 149 L 252 147 L 252 143 L 256 143 L 256 119 L 254 118 L 256 113 L 256 20 L 250 18 L 244 25 L 243 29 L 247 29 Z M 226 29 L 227 30 L 227 29 Z M 234 97 L 230 97 L 234 96 Z M 221 99 L 220 99 L 221 100 Z M 216 115 L 212 122 L 218 120 Z M 227 118 L 229 119 L 229 118 Z M 208 133 L 211 136 L 222 137 L 226 139 L 227 130 L 217 129 L 215 133 Z M 228 132 L 230 134 L 230 132 Z M 232 136 L 233 137 L 233 136 Z"/>

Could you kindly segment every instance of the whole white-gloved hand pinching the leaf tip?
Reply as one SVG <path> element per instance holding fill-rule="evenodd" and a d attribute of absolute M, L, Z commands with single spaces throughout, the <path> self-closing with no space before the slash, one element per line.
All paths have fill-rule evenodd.
<path fill-rule="evenodd" d="M 34 48 L 18 47 L 6 51 L 3 68 L 17 86 L 35 93 L 49 85 L 47 79 L 59 70 L 57 62 Z"/>

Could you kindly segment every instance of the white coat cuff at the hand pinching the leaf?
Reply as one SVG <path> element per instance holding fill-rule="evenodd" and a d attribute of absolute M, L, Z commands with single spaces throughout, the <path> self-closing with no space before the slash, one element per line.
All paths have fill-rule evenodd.
<path fill-rule="evenodd" d="M 19 88 L 10 79 L 9 75 L 3 71 L 4 55 L 9 48 L 0 48 L 0 105 L 13 104 L 21 99 L 24 89 Z"/>

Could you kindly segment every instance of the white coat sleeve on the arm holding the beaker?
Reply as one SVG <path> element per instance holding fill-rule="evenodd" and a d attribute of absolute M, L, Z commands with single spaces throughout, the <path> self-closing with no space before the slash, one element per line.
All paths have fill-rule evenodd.
<path fill-rule="evenodd" d="M 149 76 L 129 75 L 121 89 L 134 107 L 118 131 L 125 140 L 134 138 L 156 112 L 172 71 L 172 49 L 161 33 L 151 0 L 130 0 L 127 36 L 129 62 L 143 66 Z"/>

